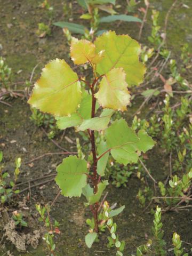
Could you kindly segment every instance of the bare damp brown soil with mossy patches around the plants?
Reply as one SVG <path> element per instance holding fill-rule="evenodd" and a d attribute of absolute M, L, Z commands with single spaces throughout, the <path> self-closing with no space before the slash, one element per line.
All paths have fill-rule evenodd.
<path fill-rule="evenodd" d="M 50 1 L 55 10 L 54 21 L 64 19 L 61 2 L 62 1 Z M 118 2 L 124 4 L 124 1 Z M 151 2 L 153 2 L 154 7 L 161 11 L 163 22 L 163 17 L 165 17 L 165 13 L 169 9 L 172 1 Z M 186 0 L 186 4 L 192 8 L 190 0 Z M 47 61 L 54 58 L 68 58 L 68 45 L 62 34 L 62 30 L 56 27 L 52 27 L 52 34 L 50 37 L 38 38 L 36 36 L 37 23 L 46 23 L 48 21 L 46 12 L 39 8 L 39 1 L 0 0 L 0 6 L 0 43 L 3 46 L 0 53 L 6 58 L 9 66 L 13 70 L 13 81 L 18 83 L 20 89 L 23 89 L 25 85 L 20 85 L 19 82 L 23 82 L 30 78 L 31 71 L 37 63 L 38 67 L 35 70 L 34 81 L 39 76 L 38 74 L 41 68 Z M 74 19 L 76 19 L 78 15 L 78 9 L 76 9 Z M 167 41 L 172 47 L 173 54 L 175 55 L 178 54 L 180 46 L 183 43 L 188 41 L 188 43 L 191 44 L 192 26 L 188 26 L 189 19 L 190 11 L 188 9 L 173 12 L 171 15 L 171 28 L 169 28 L 169 41 Z M 78 20 L 78 23 L 80 22 L 82 21 Z M 175 22 L 177 25 L 175 25 Z M 175 26 L 177 26 L 177 28 L 175 28 Z M 135 24 L 122 23 L 116 31 L 119 34 L 125 33 L 126 31 L 126 33 L 136 38 L 139 28 Z M 182 36 L 179 36 L 181 33 Z M 143 42 L 145 42 L 148 34 L 149 24 L 147 23 L 143 31 L 143 35 L 145 35 L 142 39 Z M 174 38 L 177 38 L 177 43 L 173 42 Z M 20 71 L 19 74 L 18 71 Z M 44 153 L 55 153 L 62 150 L 58 149 L 58 147 L 47 138 L 46 134 L 30 121 L 29 117 L 31 113 L 29 106 L 26 103 L 26 99 L 10 98 L 8 99 L 8 102 L 12 107 L 0 105 L 0 149 L 3 150 L 4 153 L 5 170 L 12 175 L 14 172 L 15 158 L 22 157 L 19 181 L 25 182 L 42 177 L 46 174 L 54 174 L 55 166 L 62 161 L 63 156 L 61 155 L 45 156 L 37 161 L 33 161 L 33 164 L 28 164 L 27 162 Z M 130 112 L 125 116 L 128 122 L 131 122 L 131 115 L 139 105 L 140 100 L 133 104 Z M 143 111 L 143 115 L 145 115 L 148 110 L 149 109 L 146 108 Z M 61 141 L 61 135 L 62 133 L 59 133 L 55 138 L 55 141 L 57 141 L 63 148 L 66 148 L 69 151 L 75 151 L 75 143 L 69 143 L 65 138 Z M 75 138 L 74 130 L 68 129 L 65 136 L 73 141 Z M 169 169 L 169 159 L 164 156 L 158 147 L 155 147 L 150 151 L 148 158 L 147 166 L 150 167 L 151 173 L 155 179 L 166 179 Z M 52 178 L 53 176 L 50 176 L 46 180 Z M 39 182 L 41 181 L 42 180 L 39 180 Z M 153 184 L 151 184 L 150 180 L 148 180 L 148 182 L 152 187 Z M 33 186 L 33 184 L 33 182 L 30 182 L 30 186 Z M 126 188 L 115 188 L 114 186 L 109 185 L 106 190 L 109 192 L 107 199 L 111 204 L 117 202 L 118 206 L 126 206 L 123 213 L 115 219 L 118 226 L 118 233 L 121 239 L 124 239 L 126 242 L 125 255 L 135 254 L 137 246 L 146 243 L 147 239 L 151 237 L 153 215 L 147 213 L 147 211 L 143 212 L 143 209 L 139 206 L 139 202 L 136 198 L 138 189 L 142 186 L 141 181 L 138 180 L 135 175 L 132 175 Z M 28 188 L 28 183 L 21 187 L 21 189 L 24 188 Z M 19 207 L 19 209 L 25 213 L 25 217 L 29 220 L 29 227 L 25 232 L 33 234 L 33 231 L 38 229 L 43 233 L 43 227 L 39 225 L 37 220 L 38 216 L 35 211 L 35 204 L 51 203 L 57 194 L 57 185 L 54 181 L 50 181 L 47 184 L 31 188 L 31 196 L 29 196 L 28 190 L 15 196 L 11 202 L 11 206 L 8 208 L 5 205 L 5 209 L 3 210 L 4 212 L 7 212 L 7 215 L 5 214 L 6 218 L 8 218 L 7 221 L 9 220 L 12 211 L 17 210 Z M 92 249 L 89 250 L 86 248 L 84 237 L 88 227 L 86 227 L 84 223 L 87 218 L 91 217 L 91 215 L 89 209 L 84 207 L 83 197 L 65 198 L 60 196 L 52 207 L 51 215 L 61 223 L 61 234 L 56 237 L 58 256 L 115 255 L 115 250 L 109 250 L 106 247 L 107 234 L 103 234 L 100 243 L 94 244 Z M 191 211 L 165 213 L 163 214 L 162 220 L 167 249 L 172 247 L 171 237 L 173 231 L 177 231 L 181 235 L 183 241 L 187 243 L 192 242 Z M 1 234 L 1 228 L 3 226 L 4 224 L 0 226 Z M 184 246 L 186 247 L 186 250 L 189 250 L 190 245 L 184 244 Z M 48 255 L 42 239 L 39 239 L 39 245 L 36 249 L 33 249 L 33 246 L 29 245 L 26 252 L 18 252 L 10 241 L 6 241 L 4 245 L 0 245 L 0 256 L 6 255 L 5 253 L 7 251 L 10 251 L 14 256 Z M 173 252 L 170 251 L 168 254 L 173 255 Z"/>

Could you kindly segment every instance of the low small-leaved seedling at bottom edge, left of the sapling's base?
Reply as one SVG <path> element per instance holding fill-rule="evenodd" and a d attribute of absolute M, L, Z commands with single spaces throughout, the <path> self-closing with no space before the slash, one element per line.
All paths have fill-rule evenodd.
<path fill-rule="evenodd" d="M 50 206 L 45 205 L 41 206 L 39 204 L 36 204 L 36 210 L 38 211 L 40 217 L 39 221 L 44 222 L 44 226 L 47 229 L 47 232 L 44 234 L 43 240 L 47 244 L 47 249 L 50 251 L 51 256 L 55 256 L 55 242 L 54 242 L 54 236 L 55 234 L 60 234 L 59 230 L 59 222 L 57 220 L 54 220 L 54 223 L 52 223 L 51 218 L 50 218 Z"/>

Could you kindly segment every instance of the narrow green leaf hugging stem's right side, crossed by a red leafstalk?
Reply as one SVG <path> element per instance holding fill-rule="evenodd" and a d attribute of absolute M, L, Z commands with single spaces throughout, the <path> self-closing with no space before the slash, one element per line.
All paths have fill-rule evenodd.
<path fill-rule="evenodd" d="M 107 143 L 105 141 L 101 140 L 97 149 L 98 149 L 99 156 L 102 155 L 108 149 Z M 107 152 L 105 155 L 103 155 L 97 163 L 97 173 L 101 176 L 103 176 L 105 174 L 105 169 L 106 169 L 108 158 L 109 158 L 109 152 Z"/>

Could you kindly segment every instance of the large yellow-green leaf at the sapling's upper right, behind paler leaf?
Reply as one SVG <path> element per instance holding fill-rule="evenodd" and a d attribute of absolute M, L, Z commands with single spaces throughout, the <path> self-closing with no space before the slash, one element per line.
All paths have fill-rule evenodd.
<path fill-rule="evenodd" d="M 128 35 L 116 35 L 115 31 L 108 31 L 99 36 L 94 44 L 97 53 L 105 50 L 104 57 L 97 65 L 100 75 L 113 68 L 123 68 L 129 86 L 143 81 L 146 68 L 139 61 L 141 47 L 137 41 Z"/>

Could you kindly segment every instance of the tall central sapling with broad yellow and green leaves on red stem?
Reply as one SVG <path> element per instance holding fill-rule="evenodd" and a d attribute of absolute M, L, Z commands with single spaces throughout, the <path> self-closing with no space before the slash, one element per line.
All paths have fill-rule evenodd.
<path fill-rule="evenodd" d="M 144 130 L 136 133 L 123 118 L 109 125 L 115 111 L 125 111 L 130 103 L 127 87 L 143 80 L 145 67 L 139 61 L 139 52 L 135 40 L 115 31 L 102 34 L 94 43 L 73 38 L 71 59 L 77 66 L 87 63 L 92 78 L 78 77 L 65 60 L 53 60 L 43 69 L 28 101 L 32 107 L 53 114 L 61 130 L 75 126 L 76 132 L 89 137 L 92 157 L 64 158 L 55 181 L 63 196 L 85 196 L 85 205 L 90 206 L 94 218 L 92 239 L 100 231 L 99 201 L 108 185 L 102 177 L 109 153 L 116 162 L 127 165 L 137 163 L 141 152 L 155 144 Z M 103 139 L 98 143 L 101 132 Z"/>

